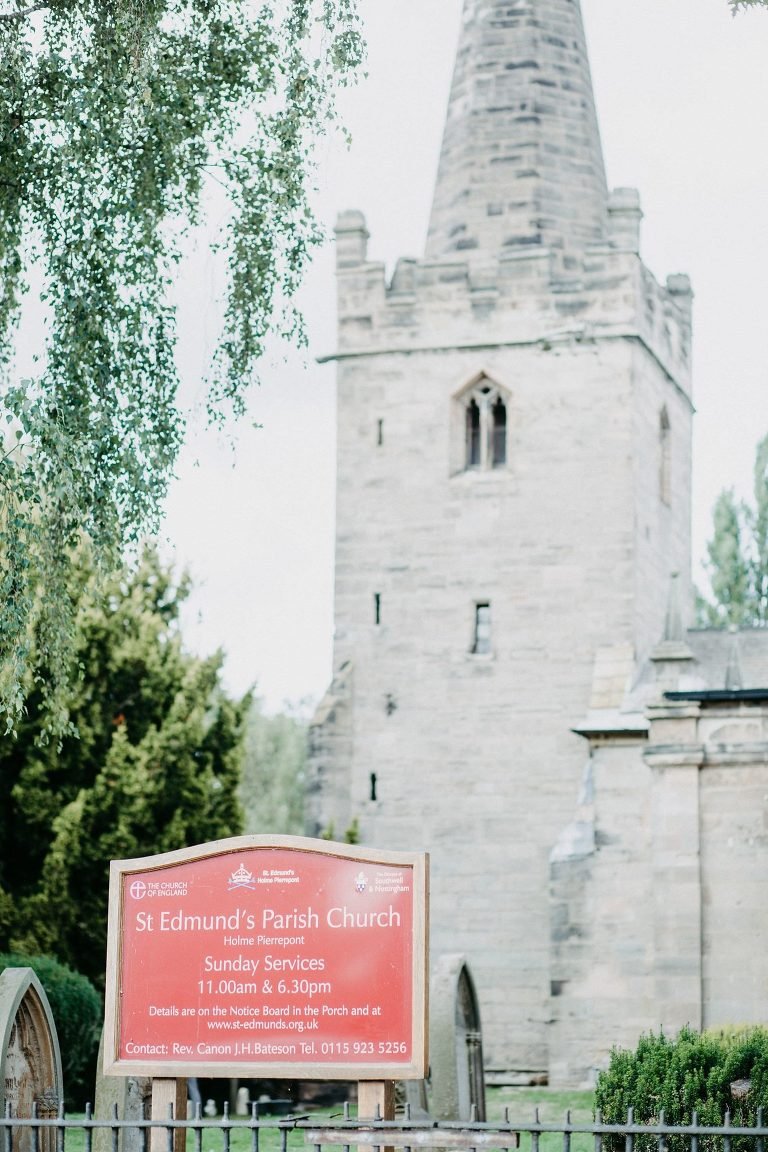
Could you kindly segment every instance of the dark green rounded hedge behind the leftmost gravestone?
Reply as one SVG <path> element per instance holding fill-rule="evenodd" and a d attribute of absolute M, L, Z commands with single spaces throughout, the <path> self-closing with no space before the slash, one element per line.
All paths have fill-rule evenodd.
<path fill-rule="evenodd" d="M 64 1102 L 81 1108 L 93 1099 L 101 1033 L 101 999 L 89 979 L 52 956 L 0 953 L 5 968 L 31 968 L 45 988 L 61 1047 Z"/>

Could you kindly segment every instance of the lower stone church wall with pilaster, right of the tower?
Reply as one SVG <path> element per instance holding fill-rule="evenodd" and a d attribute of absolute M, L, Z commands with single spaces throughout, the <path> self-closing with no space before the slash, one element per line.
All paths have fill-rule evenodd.
<path fill-rule="evenodd" d="M 550 862 L 554 1084 L 649 1030 L 765 1021 L 768 711 L 701 696 L 651 705 L 647 738 L 592 734 L 590 836 Z"/>

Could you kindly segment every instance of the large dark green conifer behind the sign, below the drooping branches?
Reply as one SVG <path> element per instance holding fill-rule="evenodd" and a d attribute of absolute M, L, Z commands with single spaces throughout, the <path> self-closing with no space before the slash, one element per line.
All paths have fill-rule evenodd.
<path fill-rule="evenodd" d="M 108 861 L 237 834 L 250 699 L 222 691 L 220 655 L 187 653 L 185 582 L 154 552 L 94 599 L 82 581 L 68 700 L 76 733 L 39 742 L 29 698 L 0 748 L 0 949 L 56 956 L 104 978 Z"/>

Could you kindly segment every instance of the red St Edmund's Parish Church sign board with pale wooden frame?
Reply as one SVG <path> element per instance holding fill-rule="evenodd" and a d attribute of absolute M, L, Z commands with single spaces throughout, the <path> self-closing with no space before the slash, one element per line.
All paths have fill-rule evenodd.
<path fill-rule="evenodd" d="M 427 857 L 238 836 L 109 878 L 105 1073 L 427 1070 Z"/>

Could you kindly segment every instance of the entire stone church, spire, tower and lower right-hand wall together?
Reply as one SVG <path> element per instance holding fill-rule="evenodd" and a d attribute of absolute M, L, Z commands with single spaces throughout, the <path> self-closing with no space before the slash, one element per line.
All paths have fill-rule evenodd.
<path fill-rule="evenodd" d="M 685 629 L 691 288 L 640 218 L 578 0 L 466 0 L 424 257 L 387 283 L 360 213 L 336 232 L 309 831 L 432 854 L 500 1078 L 588 1081 L 768 986 L 768 636 Z"/>

